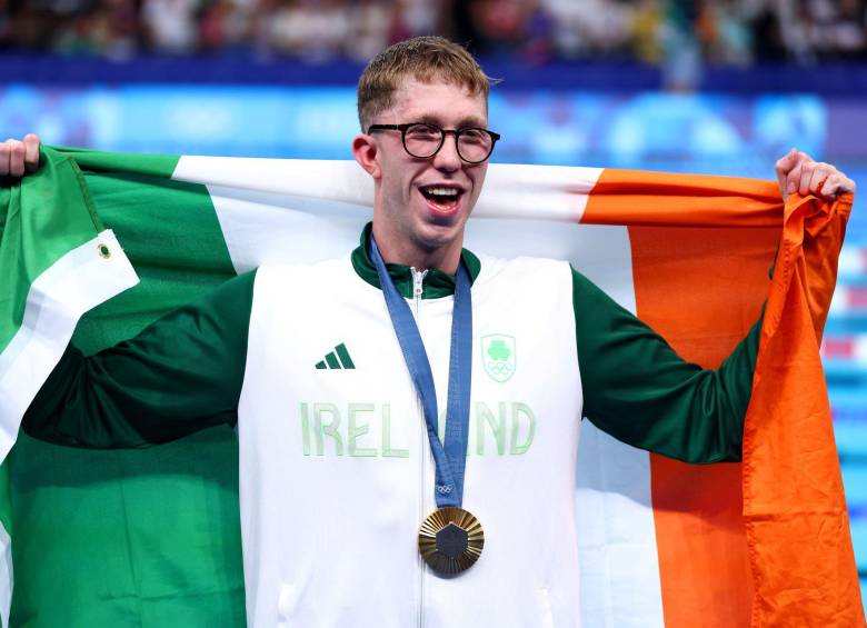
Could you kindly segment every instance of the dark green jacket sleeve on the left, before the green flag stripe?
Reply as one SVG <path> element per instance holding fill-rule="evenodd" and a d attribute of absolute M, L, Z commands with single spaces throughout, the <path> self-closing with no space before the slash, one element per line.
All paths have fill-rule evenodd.
<path fill-rule="evenodd" d="M 127 448 L 237 423 L 253 279 L 230 279 L 93 356 L 70 345 L 23 430 L 59 445 Z"/>

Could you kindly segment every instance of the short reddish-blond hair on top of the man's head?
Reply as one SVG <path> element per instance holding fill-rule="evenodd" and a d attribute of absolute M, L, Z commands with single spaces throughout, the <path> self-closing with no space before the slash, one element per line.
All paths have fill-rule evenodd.
<path fill-rule="evenodd" d="M 440 80 L 484 94 L 487 102 L 491 79 L 464 47 L 441 37 L 407 39 L 373 57 L 358 79 L 358 121 L 367 132 L 373 118 L 393 104 L 395 92 L 407 78 L 421 82 Z"/>

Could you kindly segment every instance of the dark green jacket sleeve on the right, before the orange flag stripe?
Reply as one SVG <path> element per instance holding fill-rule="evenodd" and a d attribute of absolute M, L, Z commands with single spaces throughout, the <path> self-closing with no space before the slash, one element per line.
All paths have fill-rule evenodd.
<path fill-rule="evenodd" d="M 572 270 L 584 413 L 628 445 L 686 462 L 741 458 L 760 320 L 716 370 L 681 359 Z"/>

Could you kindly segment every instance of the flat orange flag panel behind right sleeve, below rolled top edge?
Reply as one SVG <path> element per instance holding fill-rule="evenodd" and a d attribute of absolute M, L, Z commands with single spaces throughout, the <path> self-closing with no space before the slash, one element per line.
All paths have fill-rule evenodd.
<path fill-rule="evenodd" d="M 629 239 L 638 316 L 717 367 L 760 315 L 777 230 L 630 227 Z M 740 465 L 651 455 L 650 480 L 666 627 L 748 626 Z"/>

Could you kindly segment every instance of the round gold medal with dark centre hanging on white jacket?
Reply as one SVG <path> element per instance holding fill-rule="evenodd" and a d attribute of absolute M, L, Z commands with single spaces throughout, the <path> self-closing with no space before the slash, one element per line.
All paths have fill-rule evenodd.
<path fill-rule="evenodd" d="M 462 508 L 435 510 L 418 531 L 421 558 L 440 574 L 466 571 L 479 559 L 484 547 L 481 524 Z"/>

